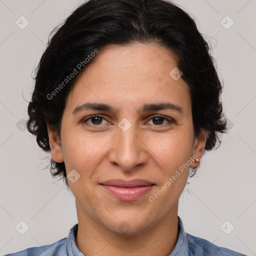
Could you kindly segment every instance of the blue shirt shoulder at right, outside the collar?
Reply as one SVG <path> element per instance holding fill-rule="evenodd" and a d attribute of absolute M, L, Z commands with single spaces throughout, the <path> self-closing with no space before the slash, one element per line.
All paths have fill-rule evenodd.
<path fill-rule="evenodd" d="M 205 256 L 205 255 L 215 255 L 215 256 L 246 256 L 239 252 L 219 247 L 212 242 L 205 240 L 200 237 L 193 236 L 187 233 L 188 241 L 188 255 L 189 256 Z"/>

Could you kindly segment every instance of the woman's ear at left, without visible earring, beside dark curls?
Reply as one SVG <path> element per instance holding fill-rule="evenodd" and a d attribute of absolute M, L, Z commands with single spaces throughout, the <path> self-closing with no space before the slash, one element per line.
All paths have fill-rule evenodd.
<path fill-rule="evenodd" d="M 56 131 L 53 131 L 47 124 L 47 131 L 50 143 L 50 153 L 55 162 L 63 162 L 63 155 L 59 137 Z"/>

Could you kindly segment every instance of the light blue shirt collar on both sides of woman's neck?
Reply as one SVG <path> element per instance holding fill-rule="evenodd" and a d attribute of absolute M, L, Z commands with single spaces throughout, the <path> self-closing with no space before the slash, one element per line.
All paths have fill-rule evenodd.
<path fill-rule="evenodd" d="M 66 239 L 66 255 L 67 256 L 84 256 L 76 247 L 75 237 L 78 230 L 78 223 L 70 228 Z M 169 256 L 188 256 L 187 235 L 184 231 L 182 221 L 178 216 L 178 239 L 173 251 Z"/>

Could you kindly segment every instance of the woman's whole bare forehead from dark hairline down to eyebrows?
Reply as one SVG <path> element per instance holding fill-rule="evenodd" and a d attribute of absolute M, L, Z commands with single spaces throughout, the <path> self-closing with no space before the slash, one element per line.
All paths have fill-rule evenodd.
<path fill-rule="evenodd" d="M 187 84 L 174 80 L 174 54 L 157 44 L 108 45 L 101 49 L 79 75 L 67 97 L 72 108 L 93 101 L 137 108 L 148 101 L 171 101 L 190 107 Z M 189 109 L 188 109 L 189 110 Z"/>

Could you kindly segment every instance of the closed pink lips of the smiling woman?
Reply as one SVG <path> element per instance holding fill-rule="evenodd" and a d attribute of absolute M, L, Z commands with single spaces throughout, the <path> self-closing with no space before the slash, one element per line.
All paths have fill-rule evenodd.
<path fill-rule="evenodd" d="M 155 184 L 144 179 L 111 179 L 100 185 L 117 199 L 132 201 L 149 192 Z"/>

